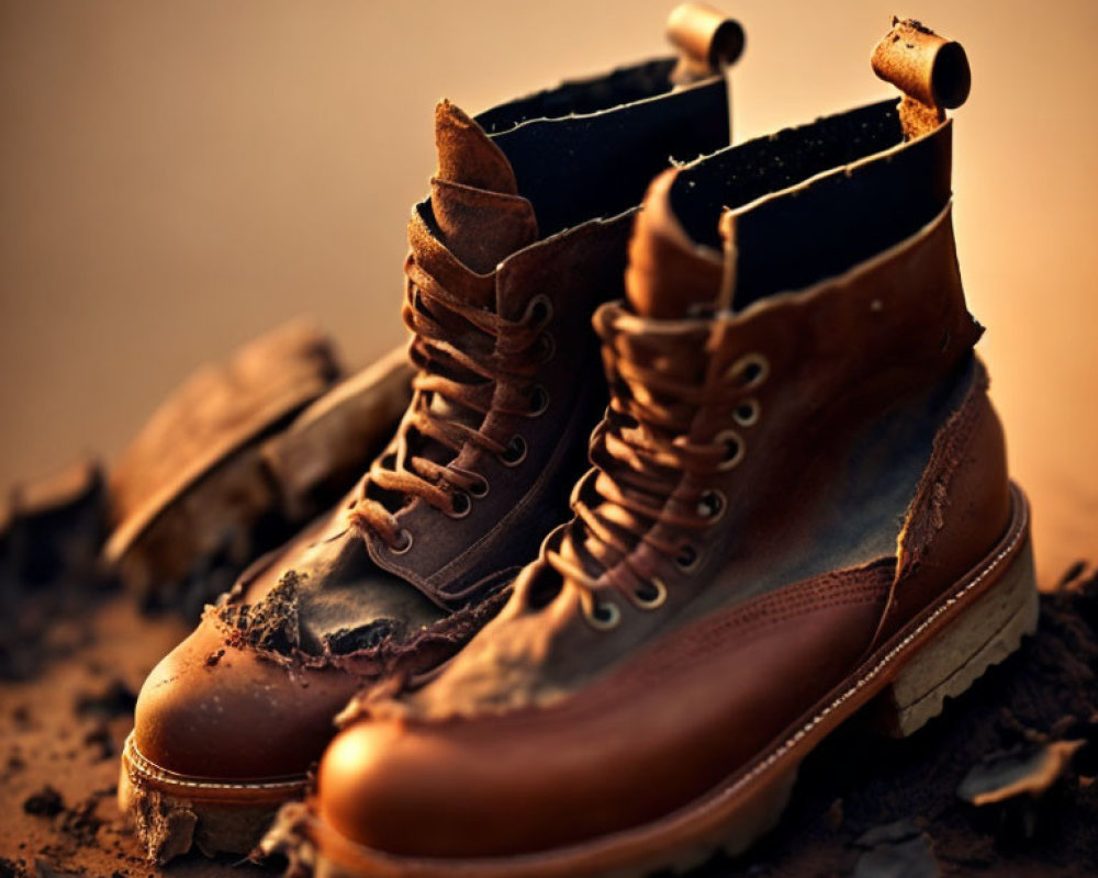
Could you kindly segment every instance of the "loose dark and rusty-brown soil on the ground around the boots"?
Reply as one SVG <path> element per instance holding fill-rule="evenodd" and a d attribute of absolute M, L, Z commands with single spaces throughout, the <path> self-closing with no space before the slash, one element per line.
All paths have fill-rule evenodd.
<path fill-rule="evenodd" d="M 191 623 L 109 584 L 0 593 L 0 878 L 277 875 L 197 854 L 154 868 L 117 814 L 135 694 Z M 942 717 L 907 741 L 841 730 L 777 831 L 694 878 L 1098 875 L 1096 672 L 1098 576 L 1079 565 L 1043 595 L 1038 634 Z"/>

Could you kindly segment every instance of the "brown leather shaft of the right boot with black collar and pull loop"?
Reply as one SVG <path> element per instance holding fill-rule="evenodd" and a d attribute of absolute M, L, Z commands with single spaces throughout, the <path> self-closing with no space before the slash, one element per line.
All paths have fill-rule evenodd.
<path fill-rule="evenodd" d="M 612 408 L 643 420 L 654 407 L 681 430 L 662 441 L 697 450 L 677 472 L 657 468 L 674 487 L 621 559 L 686 616 L 893 554 L 937 431 L 984 393 L 950 217 L 952 127 L 918 90 L 938 70 L 955 97 L 967 66 L 952 52 L 949 76 L 932 58 L 900 63 L 908 44 L 894 37 L 910 30 L 897 24 L 875 67 L 914 94 L 653 184 L 630 245 L 632 308 L 596 315 Z M 955 46 L 918 33 L 922 49 Z M 679 319 L 634 313 L 676 306 Z M 645 385 L 653 370 L 670 391 Z M 1005 471 L 993 470 L 986 491 L 999 496 Z M 720 520 L 698 521 L 714 505 Z"/>

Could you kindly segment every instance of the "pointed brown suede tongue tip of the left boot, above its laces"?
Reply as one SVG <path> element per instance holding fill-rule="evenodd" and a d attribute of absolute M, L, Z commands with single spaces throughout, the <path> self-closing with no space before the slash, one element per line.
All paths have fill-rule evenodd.
<path fill-rule="evenodd" d="M 449 101 L 435 108 L 435 143 L 438 171 L 430 202 L 438 238 L 467 268 L 486 274 L 537 240 L 534 207 L 518 194 L 503 150 Z"/>

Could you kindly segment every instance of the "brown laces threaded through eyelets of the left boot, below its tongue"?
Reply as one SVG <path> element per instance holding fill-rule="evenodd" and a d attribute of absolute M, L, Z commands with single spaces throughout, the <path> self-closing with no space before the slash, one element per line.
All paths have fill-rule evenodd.
<path fill-rule="evenodd" d="M 397 430 L 395 455 L 374 461 L 350 514 L 356 526 L 376 532 L 396 551 L 406 551 L 410 534 L 401 530 L 395 510 L 369 495 L 371 486 L 401 495 L 405 503 L 419 498 L 451 516 L 468 513 L 469 495 L 483 496 L 488 481 L 456 466 L 452 459 L 470 444 L 514 462 L 517 437 L 501 441 L 463 423 L 453 408 L 480 415 L 481 424 L 490 410 L 537 414 L 546 401 L 544 391 L 531 387 L 530 381 L 545 359 L 544 330 L 551 317 L 549 301 L 542 296 L 531 299 L 518 320 L 472 305 L 444 289 L 415 254 L 405 261 L 404 273 L 402 316 L 414 334 L 408 353 L 418 368 L 412 402 Z M 442 313 L 469 324 L 472 331 L 456 334 L 447 328 L 438 319 Z M 449 404 L 445 413 L 432 406 L 436 397 Z M 430 442 L 449 449 L 451 462 L 426 457 L 423 452 Z"/>

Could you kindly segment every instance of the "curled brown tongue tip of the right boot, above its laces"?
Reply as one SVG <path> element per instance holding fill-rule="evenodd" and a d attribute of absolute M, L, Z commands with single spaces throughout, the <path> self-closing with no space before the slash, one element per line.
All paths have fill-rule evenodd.
<path fill-rule="evenodd" d="M 720 255 L 694 244 L 671 206 L 673 168 L 648 189 L 629 241 L 626 300 L 642 317 L 681 319 L 718 302 Z"/>

